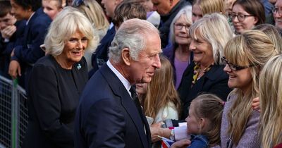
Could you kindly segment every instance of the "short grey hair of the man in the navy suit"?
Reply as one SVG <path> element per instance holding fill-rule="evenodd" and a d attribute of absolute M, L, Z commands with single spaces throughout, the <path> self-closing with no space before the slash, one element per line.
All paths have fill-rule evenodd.
<path fill-rule="evenodd" d="M 159 35 L 159 30 L 147 20 L 138 18 L 125 20 L 116 32 L 113 42 L 111 42 L 109 58 L 114 63 L 120 62 L 121 51 L 128 48 L 130 57 L 137 61 L 140 51 L 146 48 L 147 37 L 154 33 Z"/>

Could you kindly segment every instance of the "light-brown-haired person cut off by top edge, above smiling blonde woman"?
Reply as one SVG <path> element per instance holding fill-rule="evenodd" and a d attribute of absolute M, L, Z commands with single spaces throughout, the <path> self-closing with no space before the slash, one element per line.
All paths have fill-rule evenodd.
<path fill-rule="evenodd" d="M 205 14 L 224 12 L 223 0 L 195 0 L 192 5 L 192 22 L 195 23 Z"/>

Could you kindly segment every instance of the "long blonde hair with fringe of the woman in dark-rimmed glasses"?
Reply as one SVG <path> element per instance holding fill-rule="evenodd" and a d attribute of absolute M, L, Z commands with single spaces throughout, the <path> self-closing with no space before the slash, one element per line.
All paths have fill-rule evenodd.
<path fill-rule="evenodd" d="M 227 132 L 237 145 L 252 113 L 252 99 L 258 96 L 259 71 L 269 58 L 278 54 L 278 51 L 264 32 L 249 30 L 231 39 L 224 48 L 224 54 L 230 63 L 237 66 L 252 66 L 249 68 L 252 75 L 250 91 L 243 94 L 242 90 L 235 88 L 231 92 L 237 99 L 228 112 Z"/>

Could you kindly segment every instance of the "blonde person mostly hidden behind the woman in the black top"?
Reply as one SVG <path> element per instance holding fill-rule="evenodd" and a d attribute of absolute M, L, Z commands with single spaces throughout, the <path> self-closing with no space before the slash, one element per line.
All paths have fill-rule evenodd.
<path fill-rule="evenodd" d="M 98 33 L 99 39 L 106 35 L 109 28 L 109 21 L 107 20 L 102 7 L 96 0 L 74 0 L 73 7 L 78 8 L 90 20 L 95 32 Z M 85 53 L 88 70 L 92 70 L 92 53 Z"/>

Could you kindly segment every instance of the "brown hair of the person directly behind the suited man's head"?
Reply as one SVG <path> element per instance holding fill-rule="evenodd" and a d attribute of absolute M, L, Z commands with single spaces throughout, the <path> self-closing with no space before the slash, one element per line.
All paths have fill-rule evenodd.
<path fill-rule="evenodd" d="M 123 1 L 116 6 L 114 13 L 115 16 L 112 22 L 116 27 L 119 27 L 121 23 L 131 18 L 139 18 L 142 20 L 146 20 L 147 18 L 147 12 L 144 6 L 139 2 Z"/>

